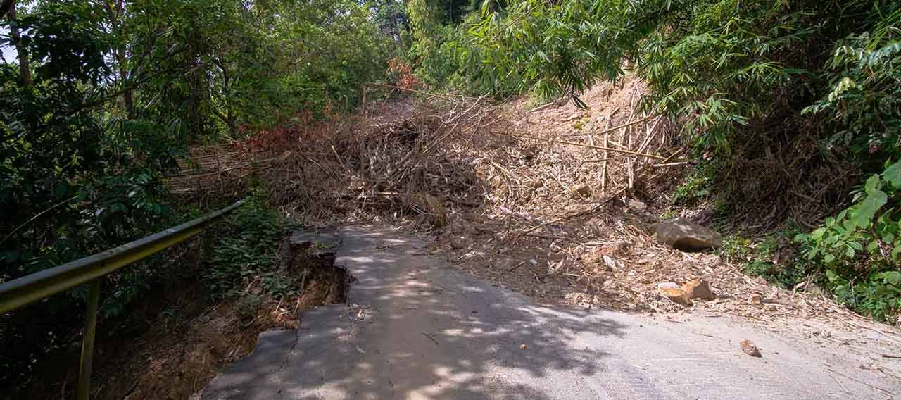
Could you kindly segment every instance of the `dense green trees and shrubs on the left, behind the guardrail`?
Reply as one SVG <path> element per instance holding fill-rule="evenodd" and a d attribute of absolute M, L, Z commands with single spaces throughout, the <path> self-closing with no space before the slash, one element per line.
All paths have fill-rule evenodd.
<path fill-rule="evenodd" d="M 0 282 L 249 192 L 185 196 L 170 183 L 196 146 L 246 143 L 252 132 L 354 108 L 359 85 L 387 74 L 397 40 L 351 1 L 0 4 Z M 233 296 L 268 270 L 284 228 L 258 197 L 214 243 L 105 279 L 102 318 L 119 318 L 154 287 L 199 279 L 207 246 L 213 256 L 200 275 L 215 296 Z M 264 284 L 276 295 L 287 290 L 275 278 Z M 72 290 L 0 316 L 0 386 L 21 383 L 43 354 L 68 348 L 83 328 L 85 298 Z"/>

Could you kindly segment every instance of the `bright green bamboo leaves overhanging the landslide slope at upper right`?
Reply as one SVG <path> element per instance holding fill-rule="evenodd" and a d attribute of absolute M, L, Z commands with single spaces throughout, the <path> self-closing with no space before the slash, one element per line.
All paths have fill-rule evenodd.
<path fill-rule="evenodd" d="M 811 111 L 853 99 L 859 106 L 838 119 L 892 130 L 898 15 L 896 4 L 883 1 L 485 2 L 460 25 L 464 37 L 446 46 L 455 50 L 437 58 L 451 68 L 447 59 L 456 53 L 458 70 L 442 76 L 468 77 L 470 88 L 574 95 L 577 105 L 579 92 L 630 67 L 650 86 L 646 106 L 684 122 L 700 149 L 730 153 L 740 132 L 759 132 L 769 118 L 811 105 L 823 79 L 836 82 L 832 95 Z M 866 29 L 874 33 L 848 35 Z M 835 56 L 827 60 L 833 44 Z M 860 129 L 836 134 L 847 139 Z"/>

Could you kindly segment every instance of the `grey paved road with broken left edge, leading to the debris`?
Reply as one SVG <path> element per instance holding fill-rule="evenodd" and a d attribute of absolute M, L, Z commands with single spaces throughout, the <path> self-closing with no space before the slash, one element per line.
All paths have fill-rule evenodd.
<path fill-rule="evenodd" d="M 859 360 L 727 318 L 669 323 L 543 307 L 428 257 L 423 241 L 365 228 L 341 235 L 336 262 L 358 279 L 351 305 L 307 312 L 298 331 L 264 332 L 257 350 L 205 387 L 204 399 L 901 394 L 901 383 L 860 369 Z M 742 353 L 743 339 L 757 343 L 763 358 Z"/>

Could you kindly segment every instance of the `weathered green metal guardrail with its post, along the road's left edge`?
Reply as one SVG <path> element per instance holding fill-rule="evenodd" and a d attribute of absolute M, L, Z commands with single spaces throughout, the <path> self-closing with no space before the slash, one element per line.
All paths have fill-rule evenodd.
<path fill-rule="evenodd" d="M 85 337 L 81 343 L 81 367 L 78 369 L 77 398 L 87 399 L 91 388 L 91 362 L 94 359 L 94 337 L 97 328 L 97 305 L 100 300 L 100 277 L 123 268 L 140 259 L 147 258 L 160 250 L 186 241 L 224 215 L 238 208 L 244 200 L 183 223 L 175 228 L 154 233 L 143 239 L 123 244 L 84 259 L 60 265 L 0 285 L 0 315 L 9 313 L 23 305 L 58 294 L 72 287 L 89 284 L 87 295 L 87 315 Z"/>

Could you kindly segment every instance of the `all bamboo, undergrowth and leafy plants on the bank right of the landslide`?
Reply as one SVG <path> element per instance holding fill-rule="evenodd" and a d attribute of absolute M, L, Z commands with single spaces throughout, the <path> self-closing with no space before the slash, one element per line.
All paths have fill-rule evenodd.
<path fill-rule="evenodd" d="M 787 266 L 752 257 L 748 270 L 783 286 L 813 280 L 895 322 L 896 2 L 413 0 L 408 10 L 410 61 L 433 88 L 579 105 L 589 86 L 641 77 L 643 107 L 677 122 L 696 160 L 674 205 L 713 202 L 727 229 L 762 234 L 747 247 L 763 252 L 780 227 L 800 226 L 778 245 L 794 249 Z"/>

